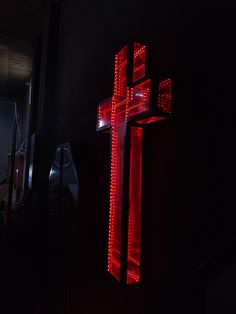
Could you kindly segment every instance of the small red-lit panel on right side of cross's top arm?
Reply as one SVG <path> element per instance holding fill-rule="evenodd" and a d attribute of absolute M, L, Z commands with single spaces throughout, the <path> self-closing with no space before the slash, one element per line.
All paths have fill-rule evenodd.
<path fill-rule="evenodd" d="M 134 70 L 133 82 L 136 82 L 145 76 L 146 66 L 146 47 L 139 43 L 134 43 Z"/>

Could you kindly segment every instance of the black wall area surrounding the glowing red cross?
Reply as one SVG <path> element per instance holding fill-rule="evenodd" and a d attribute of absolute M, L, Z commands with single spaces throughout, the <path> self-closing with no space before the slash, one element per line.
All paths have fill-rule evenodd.
<path fill-rule="evenodd" d="M 47 286 L 44 313 L 235 313 L 235 245 L 226 244 L 235 236 L 234 12 L 181 1 L 49 6 L 37 46 L 32 202 L 32 246 L 43 239 L 36 265 L 42 278 L 50 274 L 37 279 Z M 112 95 L 114 55 L 130 38 L 156 51 L 154 67 L 173 78 L 174 97 L 172 119 L 145 128 L 144 278 L 125 288 L 106 273 L 110 151 L 96 109 Z M 56 145 L 67 141 L 87 144 L 87 176 L 57 250 L 45 222 L 47 180 Z"/>

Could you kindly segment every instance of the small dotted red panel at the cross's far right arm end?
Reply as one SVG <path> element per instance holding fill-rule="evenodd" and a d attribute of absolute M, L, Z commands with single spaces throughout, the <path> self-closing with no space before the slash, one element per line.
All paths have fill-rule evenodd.
<path fill-rule="evenodd" d="M 158 109 L 162 112 L 171 113 L 172 81 L 164 79 L 158 86 Z"/>

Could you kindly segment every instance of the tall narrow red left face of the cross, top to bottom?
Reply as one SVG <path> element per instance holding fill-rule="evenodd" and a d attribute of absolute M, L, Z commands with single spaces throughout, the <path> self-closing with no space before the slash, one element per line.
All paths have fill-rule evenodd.
<path fill-rule="evenodd" d="M 121 218 L 123 200 L 124 141 L 127 121 L 127 47 L 115 59 L 114 96 L 111 110 L 111 183 L 108 271 L 120 280 Z"/>

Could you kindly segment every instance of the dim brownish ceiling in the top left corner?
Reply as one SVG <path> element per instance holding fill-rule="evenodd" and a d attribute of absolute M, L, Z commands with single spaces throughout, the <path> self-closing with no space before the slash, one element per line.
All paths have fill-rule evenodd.
<path fill-rule="evenodd" d="M 48 0 L 0 0 L 0 98 L 25 94 Z"/>

